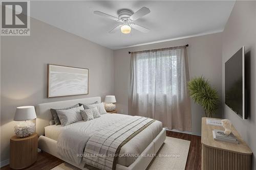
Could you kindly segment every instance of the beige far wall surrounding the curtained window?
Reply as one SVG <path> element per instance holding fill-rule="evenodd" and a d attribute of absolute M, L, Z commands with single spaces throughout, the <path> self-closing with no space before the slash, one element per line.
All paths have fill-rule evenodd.
<path fill-rule="evenodd" d="M 118 110 L 128 113 L 128 87 L 130 72 L 129 51 L 150 50 L 177 45 L 189 44 L 187 48 L 190 78 L 205 76 L 212 86 L 216 87 L 221 99 L 222 65 L 221 65 L 221 33 L 168 41 L 150 45 L 124 48 L 114 51 L 114 90 Z M 201 117 L 204 112 L 201 106 L 191 102 L 192 132 L 201 134 Z M 221 109 L 219 110 L 221 115 Z"/>

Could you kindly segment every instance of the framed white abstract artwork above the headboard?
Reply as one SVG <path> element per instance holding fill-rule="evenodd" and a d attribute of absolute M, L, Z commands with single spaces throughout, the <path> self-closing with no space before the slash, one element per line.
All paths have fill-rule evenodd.
<path fill-rule="evenodd" d="M 48 64 L 48 98 L 88 94 L 88 75 L 86 68 Z"/>

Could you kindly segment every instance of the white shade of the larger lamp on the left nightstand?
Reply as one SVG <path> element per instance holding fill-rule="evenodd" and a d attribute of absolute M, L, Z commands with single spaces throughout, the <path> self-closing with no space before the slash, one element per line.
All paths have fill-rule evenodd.
<path fill-rule="evenodd" d="M 24 121 L 36 118 L 34 106 L 21 106 L 17 107 L 14 121 Z"/>

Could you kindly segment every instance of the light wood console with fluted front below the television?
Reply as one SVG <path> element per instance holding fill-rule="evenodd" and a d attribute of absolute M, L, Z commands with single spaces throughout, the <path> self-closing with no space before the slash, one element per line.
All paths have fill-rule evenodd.
<path fill-rule="evenodd" d="M 214 140 L 212 130 L 224 130 L 220 126 L 207 125 L 206 117 L 202 118 L 202 164 L 205 170 L 251 169 L 252 151 L 241 138 L 238 131 L 231 127 L 239 144 Z"/>

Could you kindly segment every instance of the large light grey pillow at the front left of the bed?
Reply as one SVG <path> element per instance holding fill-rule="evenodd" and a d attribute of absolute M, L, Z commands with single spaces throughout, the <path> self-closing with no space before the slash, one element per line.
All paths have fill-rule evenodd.
<path fill-rule="evenodd" d="M 82 120 L 80 110 L 83 110 L 82 106 L 75 107 L 69 110 L 57 110 L 57 114 L 61 125 L 67 126 Z"/>

